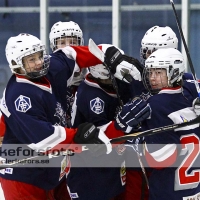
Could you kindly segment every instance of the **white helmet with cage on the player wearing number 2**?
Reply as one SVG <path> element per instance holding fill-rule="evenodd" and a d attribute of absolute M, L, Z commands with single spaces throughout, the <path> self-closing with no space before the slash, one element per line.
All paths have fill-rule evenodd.
<path fill-rule="evenodd" d="M 149 75 L 151 69 L 166 69 L 168 87 L 180 86 L 182 76 L 185 72 L 183 55 L 174 48 L 158 49 L 145 61 L 143 71 L 143 84 L 152 94 L 158 93 L 160 89 L 152 89 Z"/>

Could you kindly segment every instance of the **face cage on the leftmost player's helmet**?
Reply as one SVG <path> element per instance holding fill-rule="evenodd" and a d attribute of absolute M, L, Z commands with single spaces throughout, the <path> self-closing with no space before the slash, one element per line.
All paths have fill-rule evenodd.
<path fill-rule="evenodd" d="M 23 66 L 22 58 L 24 58 L 26 56 L 30 56 L 30 55 L 32 55 L 34 53 L 37 53 L 37 52 L 42 52 L 43 53 L 43 57 L 42 57 L 43 59 L 42 60 L 44 62 L 43 62 L 42 69 L 39 70 L 39 71 L 36 71 L 36 72 L 34 72 L 34 71 L 33 72 L 27 72 L 26 69 Z M 33 48 L 32 50 L 30 50 L 30 51 L 26 52 L 25 54 L 21 55 L 16 60 L 17 60 L 17 64 L 19 66 L 21 66 L 21 69 L 24 71 L 24 74 L 20 74 L 20 73 L 15 72 L 16 74 L 28 76 L 30 79 L 36 79 L 36 78 L 43 77 L 48 73 L 49 64 L 50 64 L 50 56 L 47 55 L 44 45 L 35 46 L 35 48 Z"/>

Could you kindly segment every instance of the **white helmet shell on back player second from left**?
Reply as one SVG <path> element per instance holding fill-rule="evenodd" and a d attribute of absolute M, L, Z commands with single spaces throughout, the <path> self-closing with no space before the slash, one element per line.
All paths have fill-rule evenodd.
<path fill-rule="evenodd" d="M 49 33 L 50 46 L 52 51 L 56 50 L 56 39 L 62 37 L 77 38 L 78 44 L 83 45 L 83 32 L 79 25 L 73 21 L 55 23 Z"/>

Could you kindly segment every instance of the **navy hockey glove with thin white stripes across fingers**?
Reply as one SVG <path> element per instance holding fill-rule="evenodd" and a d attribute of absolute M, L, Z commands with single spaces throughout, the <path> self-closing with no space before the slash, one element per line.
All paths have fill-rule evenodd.
<path fill-rule="evenodd" d="M 117 114 L 115 128 L 125 133 L 130 133 L 133 129 L 137 129 L 140 122 L 150 117 L 151 108 L 142 99 L 133 99 L 125 104 L 122 110 Z"/>

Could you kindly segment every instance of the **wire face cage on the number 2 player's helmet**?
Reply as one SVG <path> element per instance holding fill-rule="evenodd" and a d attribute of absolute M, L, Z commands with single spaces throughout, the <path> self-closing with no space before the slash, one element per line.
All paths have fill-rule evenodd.
<path fill-rule="evenodd" d="M 169 76 L 168 76 L 168 72 L 167 72 L 166 76 L 168 78 L 168 82 L 167 82 L 168 85 L 162 86 L 161 88 L 153 89 L 152 86 L 151 86 L 151 83 L 150 83 L 150 70 L 151 69 L 155 69 L 155 70 L 165 69 L 166 72 L 168 71 L 168 69 L 166 69 L 166 68 L 153 68 L 153 67 L 152 68 L 149 68 L 149 67 L 144 68 L 144 71 L 143 71 L 143 74 L 142 74 L 143 85 L 152 95 L 154 95 L 154 94 L 158 94 L 162 88 L 170 87 L 170 84 L 169 84 Z M 162 77 L 160 77 L 160 80 L 161 80 L 161 83 L 162 83 Z"/>

